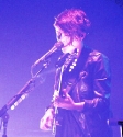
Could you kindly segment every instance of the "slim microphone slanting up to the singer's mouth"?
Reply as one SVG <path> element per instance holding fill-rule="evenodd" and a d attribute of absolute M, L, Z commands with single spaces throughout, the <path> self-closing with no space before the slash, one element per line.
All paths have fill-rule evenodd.
<path fill-rule="evenodd" d="M 32 67 L 37 66 L 41 61 L 45 61 L 46 59 L 48 59 L 56 50 L 60 49 L 63 47 L 63 43 L 62 42 L 56 42 L 54 44 L 54 46 L 44 55 L 42 56 L 40 59 L 37 59 L 34 65 L 32 65 Z"/>

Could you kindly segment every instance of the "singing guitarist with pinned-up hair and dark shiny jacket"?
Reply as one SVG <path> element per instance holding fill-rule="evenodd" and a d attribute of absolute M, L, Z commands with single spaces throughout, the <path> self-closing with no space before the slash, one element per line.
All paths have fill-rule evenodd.
<path fill-rule="evenodd" d="M 110 65 L 105 55 L 83 43 L 90 25 L 86 13 L 79 9 L 65 10 L 55 18 L 54 27 L 57 41 L 64 45 L 63 54 L 72 55 L 76 49 L 77 55 L 64 70 L 62 80 L 57 68 L 53 100 L 41 118 L 40 128 L 48 130 L 55 116 L 55 137 L 112 137 L 108 125 Z M 57 92 L 59 80 L 60 92 Z"/>

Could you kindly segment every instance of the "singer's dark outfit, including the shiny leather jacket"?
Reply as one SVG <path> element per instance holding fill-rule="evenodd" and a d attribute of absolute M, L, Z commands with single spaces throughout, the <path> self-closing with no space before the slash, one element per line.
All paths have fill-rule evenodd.
<path fill-rule="evenodd" d="M 70 65 L 71 66 L 71 65 Z M 56 73 L 57 88 L 59 73 Z M 58 109 L 56 137 L 111 137 L 107 121 L 110 116 L 111 71 L 109 59 L 83 46 L 77 65 L 63 75 L 62 88 L 70 88 L 75 102 L 85 102 L 83 111 Z M 64 93 L 60 92 L 64 96 Z"/>

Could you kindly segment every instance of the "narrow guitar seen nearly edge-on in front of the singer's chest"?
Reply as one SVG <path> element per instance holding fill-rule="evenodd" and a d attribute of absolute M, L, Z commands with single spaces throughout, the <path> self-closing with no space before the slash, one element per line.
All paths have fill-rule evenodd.
<path fill-rule="evenodd" d="M 62 78 L 63 78 L 63 73 L 64 71 L 68 68 L 69 72 L 72 71 L 74 67 L 76 66 L 77 62 L 77 49 L 75 49 L 75 52 L 72 54 L 66 54 L 63 55 L 58 61 L 56 62 L 56 67 L 57 67 L 57 71 L 59 73 L 59 78 L 57 81 L 57 88 L 54 91 L 54 95 L 55 94 L 59 94 L 60 93 L 60 85 L 62 85 Z M 53 99 L 54 101 L 54 99 Z M 55 135 L 56 134 L 56 115 L 58 113 L 57 106 L 54 107 L 54 118 L 53 118 L 53 125 L 52 125 L 52 132 Z"/>

